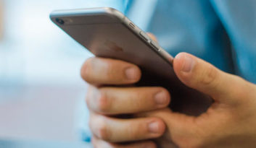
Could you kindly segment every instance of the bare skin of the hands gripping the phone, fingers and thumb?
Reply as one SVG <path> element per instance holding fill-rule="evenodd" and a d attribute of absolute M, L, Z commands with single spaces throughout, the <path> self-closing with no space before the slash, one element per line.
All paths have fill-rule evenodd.
<path fill-rule="evenodd" d="M 206 113 L 174 113 L 165 88 L 133 87 L 141 78 L 136 65 L 89 58 L 81 75 L 90 84 L 86 103 L 94 147 L 255 147 L 255 84 L 189 53 L 179 53 L 173 69 L 183 84 L 215 100 Z M 133 118 L 120 118 L 125 114 Z"/>

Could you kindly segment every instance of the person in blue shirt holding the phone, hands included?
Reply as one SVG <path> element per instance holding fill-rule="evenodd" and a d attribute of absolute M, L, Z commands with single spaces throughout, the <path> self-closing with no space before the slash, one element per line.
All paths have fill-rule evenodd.
<path fill-rule="evenodd" d="M 124 12 L 141 21 L 132 14 L 143 12 L 143 5 L 130 2 Z M 81 76 L 90 84 L 86 103 L 94 147 L 255 147 L 256 1 L 148 3 L 152 13 L 144 29 L 176 55 L 178 79 L 215 102 L 200 116 L 173 112 L 165 88 L 131 85 L 141 79 L 138 66 L 89 58 Z M 118 118 L 126 114 L 133 118 Z"/>

